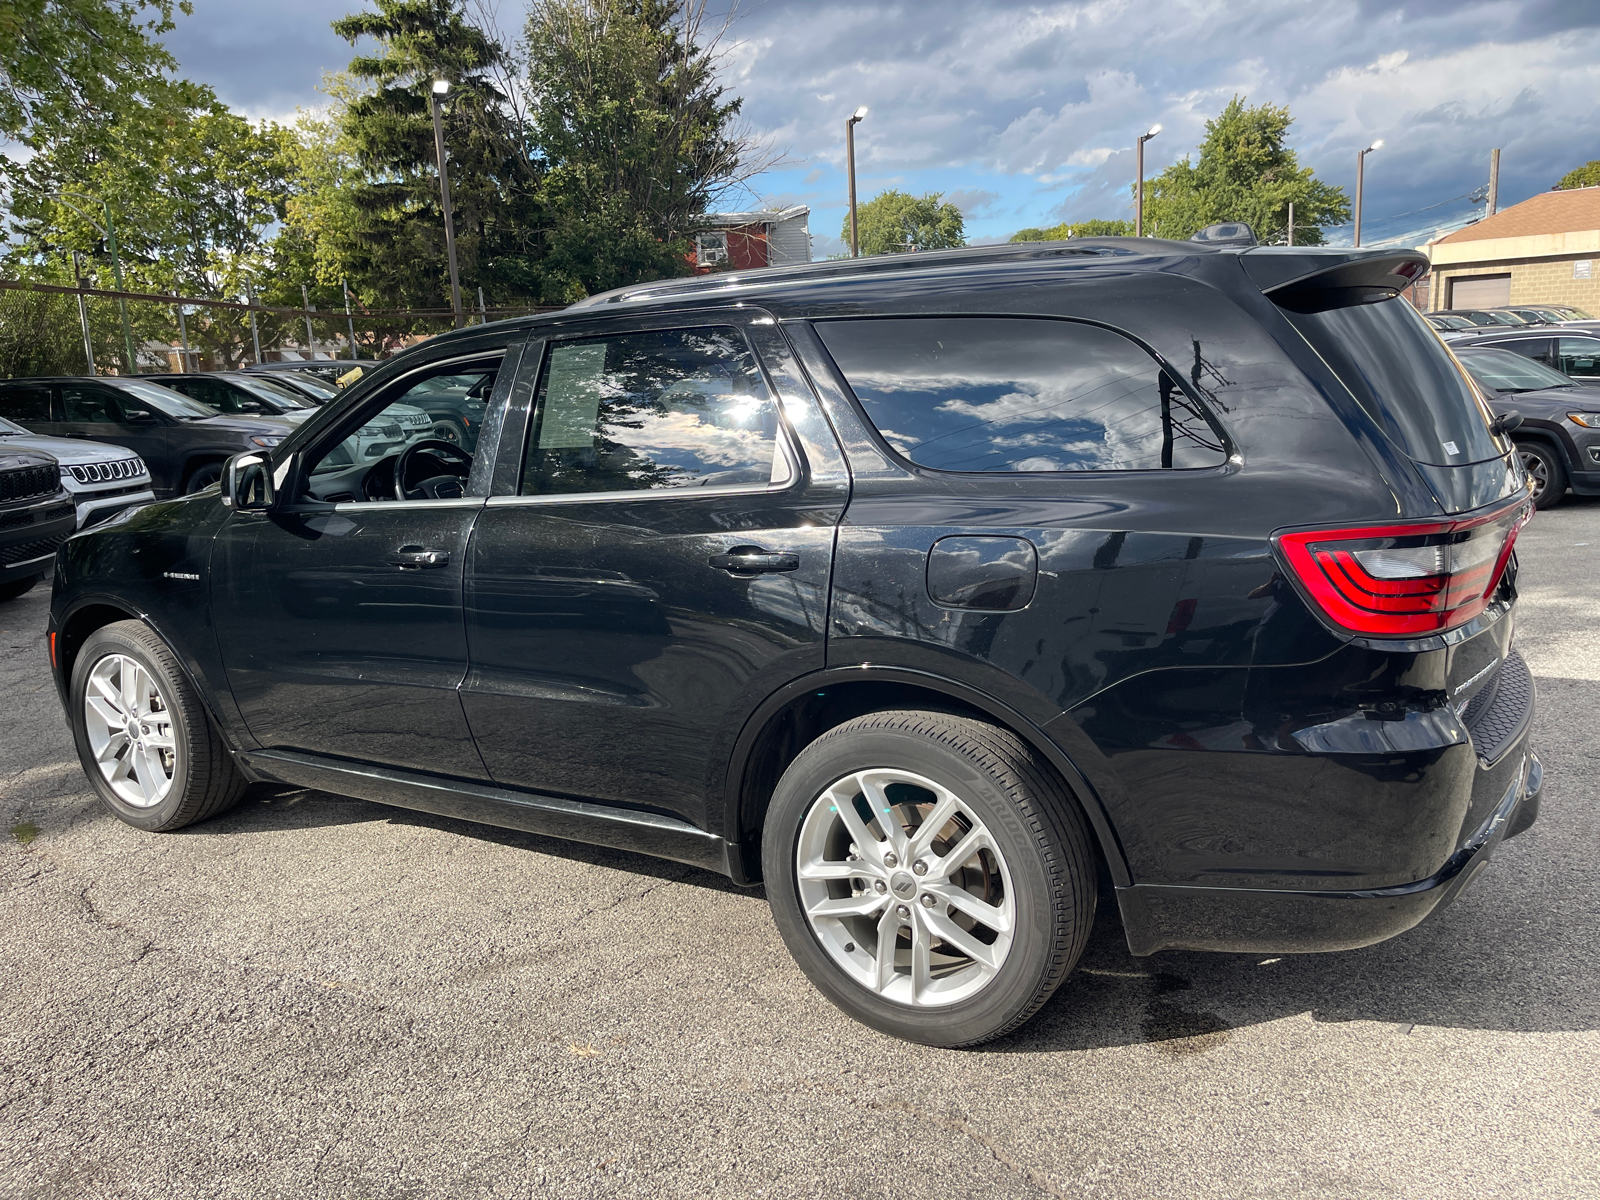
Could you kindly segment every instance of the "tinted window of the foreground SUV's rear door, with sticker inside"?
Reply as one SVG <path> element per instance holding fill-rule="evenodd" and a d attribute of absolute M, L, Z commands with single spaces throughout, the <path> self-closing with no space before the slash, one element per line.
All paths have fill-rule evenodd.
<path fill-rule="evenodd" d="M 558 342 L 522 493 L 766 485 L 789 475 L 778 406 L 738 330 Z"/>

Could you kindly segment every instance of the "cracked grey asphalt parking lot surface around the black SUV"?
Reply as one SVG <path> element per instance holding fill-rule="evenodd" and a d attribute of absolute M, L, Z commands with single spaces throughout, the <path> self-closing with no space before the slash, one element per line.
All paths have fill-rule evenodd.
<path fill-rule="evenodd" d="M 149 835 L 0 606 L 3 1197 L 1600 1195 L 1600 501 L 1520 541 L 1541 821 L 1422 926 L 1128 955 L 976 1051 L 853 1024 L 760 893 L 318 792 Z"/>

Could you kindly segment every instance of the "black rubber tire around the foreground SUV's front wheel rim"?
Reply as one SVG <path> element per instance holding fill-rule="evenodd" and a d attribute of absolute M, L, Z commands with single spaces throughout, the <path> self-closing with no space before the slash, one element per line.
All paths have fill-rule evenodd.
<path fill-rule="evenodd" d="M 85 691 L 94 666 L 110 654 L 131 658 L 150 674 L 171 717 L 176 749 L 171 789 L 150 808 L 130 805 L 112 790 L 90 746 Z M 90 634 L 72 664 L 67 696 L 72 739 L 83 773 L 101 802 L 136 829 L 165 834 L 197 821 L 208 821 L 237 805 L 250 786 L 211 725 L 200 696 L 179 669 L 178 658 L 139 621 L 117 621 Z"/>

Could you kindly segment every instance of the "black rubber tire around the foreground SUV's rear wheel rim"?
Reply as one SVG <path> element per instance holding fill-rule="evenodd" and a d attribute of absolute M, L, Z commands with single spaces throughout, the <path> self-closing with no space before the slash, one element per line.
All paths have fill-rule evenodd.
<path fill-rule="evenodd" d="M 797 854 L 806 814 L 832 784 L 869 768 L 914 773 L 957 792 L 987 826 L 1010 870 L 1010 950 L 981 990 L 954 1003 L 914 1006 L 858 982 L 824 949 L 805 914 Z M 858 1021 L 934 1046 L 1003 1037 L 1066 981 L 1094 920 L 1094 861 L 1082 810 L 1022 739 L 941 712 L 875 712 L 829 730 L 784 771 L 762 832 L 773 918 L 800 970 Z"/>

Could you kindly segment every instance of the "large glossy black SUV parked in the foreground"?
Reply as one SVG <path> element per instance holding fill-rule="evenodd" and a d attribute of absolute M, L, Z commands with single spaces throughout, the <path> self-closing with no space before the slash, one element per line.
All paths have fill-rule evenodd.
<path fill-rule="evenodd" d="M 275 781 L 760 880 L 939 1045 L 1038 1010 L 1098 883 L 1134 954 L 1390 938 L 1541 781 L 1528 482 L 1426 269 L 1074 240 L 435 338 L 67 542 L 85 770 L 152 830 Z M 472 450 L 350 453 L 467 378 Z"/>

